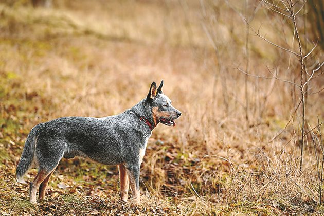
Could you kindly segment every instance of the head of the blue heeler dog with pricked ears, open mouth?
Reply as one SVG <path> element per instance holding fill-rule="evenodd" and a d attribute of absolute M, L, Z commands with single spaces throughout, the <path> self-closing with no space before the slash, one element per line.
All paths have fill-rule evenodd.
<path fill-rule="evenodd" d="M 163 80 L 157 88 L 156 83 L 152 82 L 146 101 L 152 110 L 155 125 L 159 122 L 175 126 L 174 120 L 181 116 L 181 112 L 175 109 L 171 100 L 162 92 Z"/>

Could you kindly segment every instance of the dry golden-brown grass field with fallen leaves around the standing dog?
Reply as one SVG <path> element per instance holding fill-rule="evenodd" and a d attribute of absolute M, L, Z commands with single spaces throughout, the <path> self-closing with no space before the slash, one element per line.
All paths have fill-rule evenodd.
<path fill-rule="evenodd" d="M 254 12 L 258 4 L 0 3 L 0 213 L 323 214 L 317 172 L 323 137 L 316 134 L 314 146 L 311 136 L 324 118 L 323 69 L 307 96 L 300 172 L 298 87 L 238 69 L 270 77 L 269 68 L 280 79 L 300 80 L 298 59 L 253 32 L 297 51 L 291 24 L 262 5 Z M 240 11 L 253 14 L 248 34 Z M 302 43 L 312 48 L 311 41 Z M 310 57 L 306 64 L 313 69 L 324 52 L 317 47 Z M 158 125 L 149 139 L 140 206 L 119 201 L 116 167 L 78 158 L 61 160 L 47 200 L 38 208 L 28 203 L 37 169 L 28 172 L 27 183 L 16 183 L 15 168 L 35 124 L 121 113 L 162 79 L 164 93 L 183 114 L 177 127 Z"/>

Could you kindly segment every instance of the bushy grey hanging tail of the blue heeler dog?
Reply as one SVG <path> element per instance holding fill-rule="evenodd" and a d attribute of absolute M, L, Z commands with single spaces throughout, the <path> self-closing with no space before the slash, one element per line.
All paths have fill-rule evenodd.
<path fill-rule="evenodd" d="M 37 133 L 40 128 L 40 124 L 36 125 L 31 129 L 29 132 L 26 142 L 25 142 L 25 147 L 23 149 L 22 156 L 19 160 L 19 163 L 17 165 L 16 169 L 16 175 L 17 175 L 17 180 L 20 182 L 22 181 L 23 176 L 25 173 L 28 171 L 29 167 L 31 166 L 34 158 L 34 153 L 35 153 L 35 146 L 36 146 L 36 141 L 37 141 Z"/>

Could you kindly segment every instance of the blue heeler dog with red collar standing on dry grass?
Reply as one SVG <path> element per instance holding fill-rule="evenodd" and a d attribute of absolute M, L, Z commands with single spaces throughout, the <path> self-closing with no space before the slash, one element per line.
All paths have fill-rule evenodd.
<path fill-rule="evenodd" d="M 162 92 L 163 80 L 157 88 L 153 82 L 149 94 L 125 112 L 103 118 L 63 117 L 36 125 L 28 134 L 17 165 L 21 179 L 35 162 L 39 171 L 30 183 L 29 197 L 36 203 L 45 197 L 45 189 L 59 161 L 75 156 L 105 165 L 119 166 L 120 197 L 127 201 L 129 184 L 139 203 L 139 167 L 152 130 L 161 122 L 175 126 L 181 112 L 171 105 Z"/>

